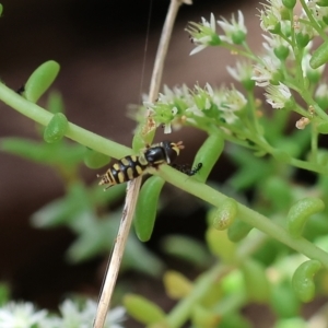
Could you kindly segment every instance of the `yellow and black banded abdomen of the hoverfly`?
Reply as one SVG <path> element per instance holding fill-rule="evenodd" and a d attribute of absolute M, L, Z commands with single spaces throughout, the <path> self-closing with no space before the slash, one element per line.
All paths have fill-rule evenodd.
<path fill-rule="evenodd" d="M 107 188 L 109 188 L 137 178 L 148 167 L 148 163 L 142 163 L 142 160 L 136 155 L 119 160 L 104 175 L 99 176 L 102 178 L 99 185 L 108 185 Z"/>

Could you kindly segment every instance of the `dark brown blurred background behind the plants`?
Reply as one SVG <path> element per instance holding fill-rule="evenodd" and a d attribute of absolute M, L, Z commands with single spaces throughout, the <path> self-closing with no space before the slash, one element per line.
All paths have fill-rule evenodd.
<path fill-rule="evenodd" d="M 70 121 L 95 133 L 131 145 L 134 122 L 127 117 L 129 104 L 140 104 L 147 93 L 161 28 L 168 0 L 2 0 L 0 19 L 0 79 L 17 90 L 46 60 L 54 59 L 61 72 L 52 89 L 65 99 Z M 150 8 L 151 7 L 151 8 Z M 190 57 L 192 44 L 184 31 L 189 21 L 221 15 L 227 20 L 242 10 L 251 38 L 251 47 L 261 43 L 256 8 L 259 1 L 195 0 L 183 5 L 174 28 L 166 59 L 163 84 L 187 83 L 213 85 L 231 83 L 225 67 L 235 58 L 224 49 L 207 49 Z M 147 39 L 148 24 L 150 24 Z M 147 43 L 145 61 L 144 48 Z M 144 67 L 143 67 L 144 66 Z M 142 71 L 144 77 L 142 80 Z M 39 102 L 45 105 L 46 97 Z M 0 137 L 37 139 L 35 124 L 0 103 Z M 186 144 L 183 163 L 192 163 L 204 136 L 181 130 L 169 137 Z M 163 139 L 159 131 L 157 140 Z M 224 180 L 231 167 L 222 162 L 211 178 Z M 101 172 L 103 172 L 102 169 Z M 96 171 L 82 168 L 86 183 L 95 180 Z M 69 265 L 65 251 L 74 239 L 67 229 L 36 230 L 30 216 L 63 194 L 60 178 L 39 164 L 0 152 L 0 281 L 10 284 L 15 300 L 36 302 L 56 308 L 68 293 L 97 295 L 107 258 L 99 257 L 80 265 Z M 183 201 L 179 194 L 175 201 Z M 176 208 L 171 204 L 171 208 Z M 147 244 L 156 251 L 156 242 L 167 233 L 186 233 L 201 238 L 204 211 L 195 208 L 195 220 L 183 222 L 184 213 L 165 211 L 156 222 L 154 235 Z M 179 221 L 180 220 L 180 221 Z M 179 263 L 175 263 L 179 266 Z M 161 297 L 142 274 L 126 273 L 133 292 Z M 168 301 L 167 301 L 168 302 Z M 169 306 L 169 304 L 167 304 Z"/>

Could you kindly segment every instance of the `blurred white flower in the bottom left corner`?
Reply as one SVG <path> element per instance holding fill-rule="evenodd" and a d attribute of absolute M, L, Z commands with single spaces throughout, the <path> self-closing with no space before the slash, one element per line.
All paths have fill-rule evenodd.
<path fill-rule="evenodd" d="M 32 303 L 10 302 L 0 308 L 0 328 L 32 328 L 45 320 L 47 312 Z"/>

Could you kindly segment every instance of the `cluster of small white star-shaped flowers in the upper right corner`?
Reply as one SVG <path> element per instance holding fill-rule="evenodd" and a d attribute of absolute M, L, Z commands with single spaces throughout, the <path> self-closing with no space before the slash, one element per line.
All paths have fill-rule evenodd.
<path fill-rule="evenodd" d="M 293 109 L 291 106 L 295 103 L 291 90 L 300 93 L 302 89 L 302 86 L 297 87 L 300 82 L 297 74 L 301 72 L 304 80 L 312 83 L 317 83 L 323 74 L 324 65 L 315 69 L 311 67 L 311 50 L 312 39 L 320 34 L 321 26 L 328 24 L 328 8 L 320 7 L 319 0 L 302 3 L 306 5 L 302 10 L 295 7 L 296 1 L 290 2 L 286 4 L 283 0 L 266 0 L 262 3 L 259 19 L 260 27 L 266 32 L 262 44 L 263 55 L 255 56 L 248 48 L 247 28 L 241 11 L 237 19 L 233 15 L 230 22 L 225 19 L 215 21 L 214 15 L 211 14 L 210 21 L 202 17 L 199 24 L 190 23 L 191 27 L 187 31 L 197 46 L 190 55 L 208 46 L 221 45 L 233 54 L 247 57 L 247 61 L 237 62 L 236 68 L 229 67 L 229 73 L 247 91 L 253 91 L 254 85 L 265 87 L 267 102 L 273 108 L 290 106 Z M 223 35 L 216 34 L 216 23 L 223 30 Z M 226 97 L 226 101 L 230 102 L 231 98 Z M 220 104 L 218 108 L 223 110 L 221 101 Z M 203 112 L 199 113 L 199 106 L 194 106 L 188 110 L 194 112 L 195 115 L 203 114 Z M 224 117 L 224 119 L 233 121 L 231 119 L 234 117 L 233 112 L 229 109 L 230 118 Z"/>

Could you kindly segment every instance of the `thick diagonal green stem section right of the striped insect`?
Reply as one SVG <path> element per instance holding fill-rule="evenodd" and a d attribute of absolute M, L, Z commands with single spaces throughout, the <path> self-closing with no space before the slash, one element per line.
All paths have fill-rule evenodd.
<path fill-rule="evenodd" d="M 222 201 L 226 200 L 227 197 L 223 194 L 214 190 L 213 188 L 197 181 L 186 175 L 177 172 L 176 169 L 163 165 L 154 172 L 163 177 L 169 184 L 213 204 L 219 208 Z M 285 229 L 270 221 L 265 215 L 248 209 L 247 207 L 238 203 L 238 218 L 251 226 L 263 232 L 268 236 L 288 245 L 289 247 L 304 254 L 311 259 L 319 260 L 326 268 L 328 268 L 328 254 L 323 249 L 316 247 L 305 238 L 292 238 Z"/>

